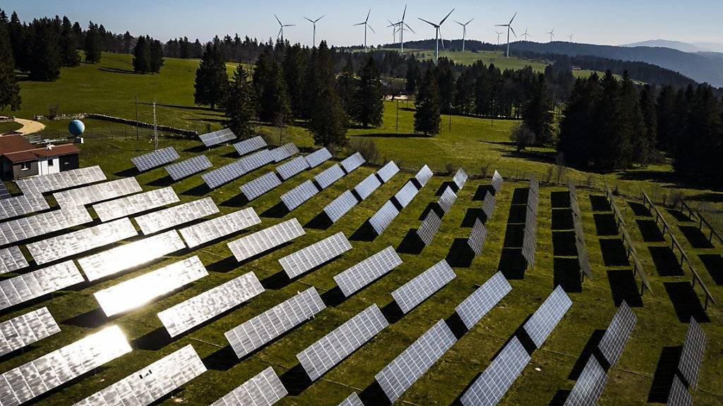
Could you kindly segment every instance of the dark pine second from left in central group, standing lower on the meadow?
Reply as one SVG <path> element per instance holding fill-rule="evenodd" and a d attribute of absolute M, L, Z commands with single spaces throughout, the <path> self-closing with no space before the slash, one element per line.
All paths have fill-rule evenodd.
<path fill-rule="evenodd" d="M 249 74 L 239 64 L 234 72 L 234 79 L 228 86 L 226 98 L 223 99 L 226 126 L 241 138 L 252 135 L 251 121 L 256 114 L 254 88 L 249 82 Z"/>

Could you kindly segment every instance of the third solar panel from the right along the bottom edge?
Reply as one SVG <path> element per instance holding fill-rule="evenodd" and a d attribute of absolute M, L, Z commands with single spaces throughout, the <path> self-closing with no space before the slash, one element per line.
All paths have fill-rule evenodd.
<path fill-rule="evenodd" d="M 462 405 L 497 405 L 529 362 L 530 355 L 527 350 L 517 337 L 513 337 L 482 375 L 462 394 Z"/>

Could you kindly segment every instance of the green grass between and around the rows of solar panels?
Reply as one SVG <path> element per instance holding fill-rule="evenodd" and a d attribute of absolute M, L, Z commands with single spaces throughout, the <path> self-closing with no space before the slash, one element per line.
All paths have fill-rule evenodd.
<path fill-rule="evenodd" d="M 491 134 L 480 134 L 479 138 L 480 143 L 495 140 L 495 136 Z M 416 139 L 403 139 L 403 141 L 419 142 Z M 198 150 L 200 142 L 161 139 L 160 147 L 168 145 L 173 145 L 181 153 L 182 158 L 187 158 L 196 155 L 197 152 L 194 151 Z M 431 147 L 429 146 L 429 148 Z M 162 168 L 142 174 L 138 174 L 132 169 L 130 158 L 147 152 L 150 148 L 152 146 L 147 142 L 117 140 L 111 143 L 87 139 L 87 143 L 82 146 L 82 166 L 101 165 L 109 179 L 136 176 L 145 190 L 166 186 L 168 179 Z M 443 148 L 440 147 L 440 150 Z M 235 155 L 233 148 L 228 146 L 203 152 L 210 157 L 215 167 L 231 162 Z M 400 160 L 408 166 L 416 165 L 412 163 L 411 157 L 406 157 L 406 155 L 401 157 L 390 155 L 390 157 Z M 424 158 L 433 159 L 432 156 Z M 465 165 L 466 162 L 474 162 L 472 156 L 467 159 L 469 161 L 464 161 Z M 492 168 L 497 168 L 501 162 L 502 160 L 495 161 Z M 399 249 L 405 236 L 419 227 L 419 217 L 428 204 L 437 201 L 435 192 L 440 189 L 443 182 L 450 181 L 447 176 L 437 175 L 432 178 L 432 181 L 422 189 L 414 201 L 394 220 L 390 228 L 374 241 L 356 241 L 351 236 L 369 216 L 395 194 L 411 176 L 410 173 L 399 173 L 375 194 L 372 194 L 369 199 L 354 207 L 340 222 L 327 230 L 307 227 L 306 235 L 297 238 L 288 246 L 283 246 L 281 249 L 250 262 L 237 264 L 226 243 L 292 217 L 298 218 L 301 225 L 307 225 L 325 204 L 328 204 L 342 191 L 351 189 L 372 172 L 372 168 L 359 168 L 294 212 L 284 215 L 283 218 L 277 218 L 278 215 L 272 208 L 280 202 L 281 194 L 302 181 L 312 178 L 331 164 L 325 163 L 314 170 L 301 173 L 274 191 L 254 200 L 251 204 L 245 204 L 244 206 L 254 207 L 262 217 L 262 223 L 250 230 L 244 230 L 223 241 L 202 246 L 196 251 L 182 251 L 180 254 L 166 256 L 159 262 L 140 267 L 140 269 L 110 280 L 85 283 L 80 287 L 56 293 L 53 297 L 33 301 L 28 306 L 19 306 L 11 312 L 6 312 L 3 319 L 9 319 L 31 309 L 48 306 L 59 322 L 62 331 L 30 346 L 23 353 L 4 358 L 1 360 L 2 371 L 7 371 L 51 350 L 67 345 L 104 326 L 116 324 L 123 329 L 132 342 L 134 348 L 132 353 L 111 361 L 95 373 L 86 374 L 83 379 L 73 381 L 72 384 L 64 386 L 62 390 L 51 392 L 50 395 L 42 397 L 38 405 L 69 405 L 77 402 L 93 392 L 113 384 L 132 371 L 188 344 L 193 345 L 205 361 L 208 372 L 175 391 L 171 397 L 163 398 L 158 404 L 208 405 L 268 366 L 273 366 L 276 373 L 282 376 L 283 373 L 298 364 L 296 353 L 372 303 L 377 303 L 380 308 L 387 306 L 392 301 L 390 293 L 395 288 L 419 275 L 420 272 L 440 259 L 450 259 L 455 264 L 454 269 L 457 275 L 455 280 L 409 314 L 390 324 L 390 327 L 343 360 L 315 384 L 299 394 L 292 394 L 278 402 L 278 405 L 337 405 L 351 392 L 361 392 L 366 389 L 374 381 L 375 374 L 416 340 L 420 334 L 432 327 L 437 320 L 446 319 L 453 314 L 455 306 L 475 290 L 476 284 L 487 280 L 497 272 L 497 269 L 510 274 L 514 273 L 505 262 L 500 264 L 500 259 L 505 245 L 505 233 L 514 228 L 514 226 L 511 228 L 507 226 L 510 204 L 513 202 L 513 196 L 526 190 L 526 183 L 505 182 L 502 191 L 496 196 L 495 215 L 487 221 L 489 237 L 482 256 L 469 264 L 464 264 L 464 256 L 455 254 L 457 250 L 453 249 L 458 246 L 459 242 L 455 240 L 466 238 L 469 235 L 470 228 L 466 226 L 466 219 L 469 220 L 469 215 L 481 207 L 482 202 L 476 195 L 489 184 L 489 179 L 471 180 L 459 193 L 452 210 L 443 217 L 440 232 L 431 246 L 419 254 L 400 254 L 404 263 L 388 275 L 346 301 L 335 304 L 335 306 L 328 306 L 314 319 L 307 321 L 280 339 L 274 340 L 262 350 L 242 360 L 236 360 L 223 337 L 226 330 L 290 298 L 297 291 L 309 288 L 309 286 L 314 286 L 323 295 L 334 288 L 333 276 L 343 269 L 387 246 Z M 211 196 L 220 207 L 221 212 L 225 214 L 242 207 L 243 203 L 239 199 L 241 184 L 272 169 L 272 165 L 268 165 L 238 181 L 210 192 L 205 189 L 200 176 L 192 176 L 184 181 L 172 183 L 171 186 L 181 197 L 181 202 Z M 471 173 L 476 173 L 474 167 L 467 167 L 467 169 Z M 443 355 L 440 361 L 435 363 L 416 384 L 411 386 L 411 389 L 396 404 L 450 405 L 475 379 L 476 375 L 484 371 L 497 350 L 544 301 L 544 298 L 555 287 L 556 282 L 562 282 L 565 286 L 576 285 L 574 283 L 576 277 L 570 275 L 569 267 L 566 268 L 564 265 L 565 257 L 562 256 L 564 253 L 558 251 L 565 247 L 565 238 L 562 236 L 565 233 L 552 231 L 553 224 L 557 224 L 559 215 L 562 214 L 560 209 L 553 210 L 553 207 L 560 207 L 560 192 L 564 194 L 565 190 L 566 188 L 560 186 L 544 186 L 540 189 L 537 259 L 534 269 L 527 269 L 526 272 L 523 272 L 523 277 L 510 276 L 513 290 L 476 327 L 464 334 L 461 340 Z M 630 267 L 606 266 L 603 251 L 607 256 L 611 255 L 609 242 L 617 241 L 617 238 L 598 236 L 596 222 L 599 222 L 598 217 L 604 217 L 605 213 L 594 212 L 590 195 L 601 196 L 597 191 L 578 189 L 578 199 L 580 199 L 583 212 L 583 229 L 586 233 L 586 244 L 589 247 L 589 255 L 593 264 L 594 279 L 583 282 L 581 292 L 570 293 L 570 298 L 573 299 L 572 308 L 542 348 L 534 352 L 531 362 L 515 381 L 507 396 L 502 399 L 501 405 L 555 404 L 554 399 L 558 391 L 572 388 L 574 381 L 569 379 L 569 375 L 576 368 L 581 368 L 579 363 L 584 359 L 579 358 L 583 354 L 586 344 L 596 334 L 596 330 L 607 327 L 615 313 L 615 300 L 623 296 L 628 299 L 637 297 L 636 294 L 630 293 L 630 290 L 635 288 L 630 285 L 632 282 L 626 279 L 629 275 L 627 269 Z M 564 199 L 562 200 L 564 201 Z M 678 319 L 676 312 L 683 311 L 685 313 L 685 309 L 681 310 L 680 307 L 681 298 L 667 291 L 667 286 L 675 282 L 686 285 L 690 280 L 690 275 L 659 276 L 648 247 L 665 246 L 666 243 L 643 242 L 641 230 L 636 226 L 636 220 L 644 220 L 643 217 L 635 217 L 633 208 L 625 204 L 623 199 L 620 199 L 618 204 L 625 214 L 630 233 L 636 241 L 636 248 L 641 253 L 643 265 L 646 267 L 646 273 L 649 275 L 655 295 L 646 293 L 641 299 L 642 306 L 633 308 L 638 316 L 638 326 L 625 348 L 620 363 L 609 371 L 609 382 L 602 394 L 600 405 L 647 405 L 661 353 L 666 351 L 664 350 L 666 347 L 682 345 L 687 328 L 687 324 Z M 599 207 L 595 209 L 600 210 Z M 677 224 L 675 217 L 668 212 L 664 213 L 669 223 Z M 680 230 L 675 226 L 674 228 L 674 233 L 679 241 L 687 241 Z M 343 231 L 347 237 L 351 238 L 354 249 L 290 283 L 275 282 L 278 281 L 278 278 L 273 276 L 281 272 L 279 258 L 339 231 Z M 606 248 L 603 250 L 602 246 Z M 706 268 L 696 255 L 720 253 L 722 246 L 716 244 L 712 249 L 693 249 L 686 245 L 686 248 L 696 263 L 704 282 L 711 288 L 716 298 L 723 298 L 723 286 L 715 285 L 711 275 L 706 272 Z M 613 249 L 612 255 L 615 256 L 614 254 Z M 100 311 L 93 293 L 193 255 L 200 256 L 202 262 L 208 267 L 210 273 L 208 277 L 127 314 L 106 319 L 103 312 Z M 155 316 L 158 311 L 251 271 L 262 280 L 262 284 L 267 288 L 265 293 L 175 340 L 166 336 L 165 330 Z M 710 272 L 720 271 L 711 269 Z M 14 275 L 16 274 L 3 276 L 12 277 Z M 673 306 L 673 303 L 676 306 Z M 720 309 L 710 307 L 707 315 L 711 322 L 703 324 L 703 329 L 708 334 L 709 342 L 701 369 L 699 388 L 694 399 L 696 405 L 712 406 L 720 405 L 723 399 L 723 389 L 720 385 L 723 380 L 723 358 L 720 356 L 723 352 L 723 327 L 721 324 L 723 314 Z"/>

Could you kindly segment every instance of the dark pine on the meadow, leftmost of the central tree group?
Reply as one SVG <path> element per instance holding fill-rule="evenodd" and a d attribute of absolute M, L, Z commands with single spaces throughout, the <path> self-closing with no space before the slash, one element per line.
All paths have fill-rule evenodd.
<path fill-rule="evenodd" d="M 194 103 L 197 105 L 210 105 L 211 110 L 221 103 L 228 87 L 228 74 L 226 63 L 221 59 L 216 46 L 206 46 L 201 64 L 196 70 L 194 83 Z"/>

